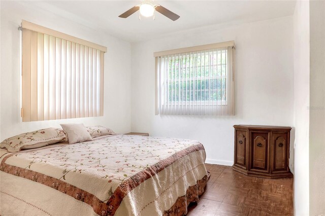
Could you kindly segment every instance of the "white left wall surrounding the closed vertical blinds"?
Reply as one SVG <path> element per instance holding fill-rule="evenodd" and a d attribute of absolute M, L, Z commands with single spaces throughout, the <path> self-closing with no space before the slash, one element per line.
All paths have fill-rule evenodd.
<path fill-rule="evenodd" d="M 21 122 L 20 120 L 20 36 L 21 20 L 43 25 L 108 47 L 104 59 L 104 116 L 71 120 Z M 1 139 L 21 132 L 59 123 L 82 122 L 103 125 L 116 132 L 131 130 L 131 44 L 74 23 L 50 11 L 28 6 L 26 2 L 1 1 Z"/>

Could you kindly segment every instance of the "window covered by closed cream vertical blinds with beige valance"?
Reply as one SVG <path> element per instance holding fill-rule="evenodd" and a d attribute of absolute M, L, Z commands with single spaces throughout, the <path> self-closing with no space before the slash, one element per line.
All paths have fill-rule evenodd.
<path fill-rule="evenodd" d="M 103 116 L 106 50 L 22 21 L 22 121 Z"/>

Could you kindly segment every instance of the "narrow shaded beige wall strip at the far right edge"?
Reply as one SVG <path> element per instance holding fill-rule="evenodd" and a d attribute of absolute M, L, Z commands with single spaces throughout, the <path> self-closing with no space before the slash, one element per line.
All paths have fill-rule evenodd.
<path fill-rule="evenodd" d="M 325 2 L 310 1 L 310 215 L 325 215 Z"/>

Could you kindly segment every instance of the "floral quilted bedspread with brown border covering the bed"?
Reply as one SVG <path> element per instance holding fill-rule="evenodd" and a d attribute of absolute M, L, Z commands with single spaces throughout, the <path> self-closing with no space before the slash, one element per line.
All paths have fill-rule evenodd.
<path fill-rule="evenodd" d="M 209 174 L 195 140 L 114 134 L 0 150 L 1 215 L 185 215 Z"/>

